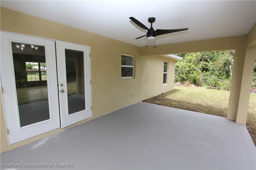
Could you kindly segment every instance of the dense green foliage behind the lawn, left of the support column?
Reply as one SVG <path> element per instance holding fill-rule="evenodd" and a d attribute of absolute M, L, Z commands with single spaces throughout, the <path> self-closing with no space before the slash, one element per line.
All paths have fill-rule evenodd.
<path fill-rule="evenodd" d="M 230 90 L 235 51 L 178 54 L 175 82 L 190 82 L 197 86 Z"/>

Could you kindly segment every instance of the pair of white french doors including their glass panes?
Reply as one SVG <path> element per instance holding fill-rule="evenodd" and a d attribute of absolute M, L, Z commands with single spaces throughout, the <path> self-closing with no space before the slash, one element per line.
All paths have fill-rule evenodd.
<path fill-rule="evenodd" d="M 59 43 L 1 31 L 0 78 L 9 144 L 91 116 L 90 47 Z"/>

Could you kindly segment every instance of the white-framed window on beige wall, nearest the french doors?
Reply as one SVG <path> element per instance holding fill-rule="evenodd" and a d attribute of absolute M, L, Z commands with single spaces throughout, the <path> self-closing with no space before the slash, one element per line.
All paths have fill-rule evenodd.
<path fill-rule="evenodd" d="M 122 54 L 122 78 L 133 78 L 134 56 Z"/>

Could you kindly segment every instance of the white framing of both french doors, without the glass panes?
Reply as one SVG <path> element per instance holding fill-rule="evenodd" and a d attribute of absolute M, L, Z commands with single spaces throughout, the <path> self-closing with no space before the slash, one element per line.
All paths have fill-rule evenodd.
<path fill-rule="evenodd" d="M 90 47 L 5 31 L 0 31 L 0 36 L 0 86 L 2 87 L 1 97 L 9 145 L 60 127 L 66 127 L 92 116 Z M 50 110 L 50 119 L 48 120 L 20 127 L 11 42 L 36 44 L 45 47 L 48 103 Z M 65 51 L 65 48 L 84 52 L 86 109 L 71 115 L 68 115 L 66 97 L 64 97 L 63 93 L 58 93 L 60 86 L 58 86 L 57 74 L 59 81 L 66 82 L 66 64 L 65 59 L 62 60 L 63 57 L 65 57 L 65 52 L 64 55 L 62 55 L 63 49 Z M 57 63 L 57 61 L 59 63 Z M 62 72 L 57 72 L 57 66 L 58 69 L 63 69 Z M 60 104 L 60 107 L 58 103 Z"/>

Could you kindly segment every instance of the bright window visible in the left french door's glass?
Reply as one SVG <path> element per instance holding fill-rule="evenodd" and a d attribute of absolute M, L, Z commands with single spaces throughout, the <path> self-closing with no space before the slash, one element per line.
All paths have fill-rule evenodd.
<path fill-rule="evenodd" d="M 46 80 L 46 63 L 26 62 L 26 72 L 28 82 L 44 81 Z"/>

